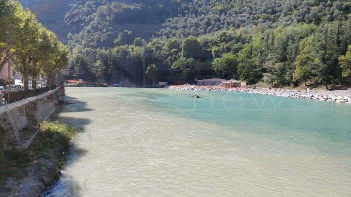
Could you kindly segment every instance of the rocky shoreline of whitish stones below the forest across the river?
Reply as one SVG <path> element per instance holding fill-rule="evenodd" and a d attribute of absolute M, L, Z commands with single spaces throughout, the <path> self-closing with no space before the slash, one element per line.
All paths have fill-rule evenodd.
<path fill-rule="evenodd" d="M 168 89 L 175 90 L 193 90 L 193 91 L 217 91 L 217 92 L 239 92 L 250 94 L 273 95 L 300 99 L 311 99 L 318 101 L 328 101 L 336 103 L 351 104 L 351 90 L 333 90 L 333 91 L 297 91 L 285 89 L 268 89 L 268 88 L 223 88 L 214 86 L 169 86 Z"/>

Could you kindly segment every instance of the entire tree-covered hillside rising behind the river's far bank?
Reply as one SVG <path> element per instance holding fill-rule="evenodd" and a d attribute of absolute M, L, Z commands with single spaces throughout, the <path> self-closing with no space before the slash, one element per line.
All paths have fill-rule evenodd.
<path fill-rule="evenodd" d="M 70 69 L 86 81 L 351 84 L 348 0 L 25 2 L 51 22 L 71 50 Z"/>

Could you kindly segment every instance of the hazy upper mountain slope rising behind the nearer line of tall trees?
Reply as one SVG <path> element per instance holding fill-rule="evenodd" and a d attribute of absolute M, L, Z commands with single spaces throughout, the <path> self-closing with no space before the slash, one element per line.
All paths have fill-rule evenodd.
<path fill-rule="evenodd" d="M 346 0 L 21 0 L 60 39 L 68 32 L 93 46 L 133 37 L 168 39 L 213 34 L 229 27 L 332 21 L 350 11 Z M 240 14 L 247 14 L 240 18 Z M 72 43 L 73 44 L 73 43 Z M 74 42 L 74 44 L 77 44 Z"/>

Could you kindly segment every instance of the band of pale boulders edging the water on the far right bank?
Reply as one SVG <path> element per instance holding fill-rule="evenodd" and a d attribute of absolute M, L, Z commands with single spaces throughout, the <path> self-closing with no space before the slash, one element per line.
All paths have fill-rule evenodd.
<path fill-rule="evenodd" d="M 194 91 L 218 91 L 218 92 L 240 92 L 240 93 L 251 93 L 251 94 L 263 94 L 263 95 L 273 95 L 291 98 L 301 98 L 301 99 L 311 99 L 319 101 L 330 101 L 337 103 L 347 103 L 351 104 L 351 95 L 324 95 L 318 94 L 318 92 L 308 93 L 308 92 L 298 92 L 298 91 L 264 91 L 259 89 L 238 89 L 238 88 L 222 88 L 222 87 L 206 87 L 206 86 L 169 86 L 168 89 L 176 90 L 194 90 Z M 332 93 L 333 91 L 330 91 Z"/>

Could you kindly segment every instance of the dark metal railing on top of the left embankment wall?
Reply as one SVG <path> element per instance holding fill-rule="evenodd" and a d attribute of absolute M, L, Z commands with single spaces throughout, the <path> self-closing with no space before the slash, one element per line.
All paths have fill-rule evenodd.
<path fill-rule="evenodd" d="M 23 90 L 14 90 L 11 92 L 6 92 L 3 95 L 3 98 L 5 99 L 5 102 L 8 103 L 14 103 L 16 101 L 20 101 L 26 98 L 38 96 L 40 94 L 43 94 L 45 92 L 48 92 L 50 90 L 54 90 L 56 88 L 56 85 L 50 85 L 46 86 L 43 88 L 32 88 L 32 89 L 23 89 Z"/>

